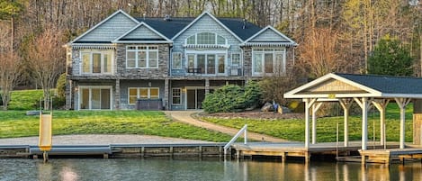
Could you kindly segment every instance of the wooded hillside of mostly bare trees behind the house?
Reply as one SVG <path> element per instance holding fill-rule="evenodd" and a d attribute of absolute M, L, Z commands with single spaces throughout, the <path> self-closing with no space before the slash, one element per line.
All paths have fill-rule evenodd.
<path fill-rule="evenodd" d="M 36 43 L 66 44 L 118 9 L 135 17 L 194 17 L 207 10 L 218 17 L 272 25 L 299 43 L 296 62 L 307 77 L 333 71 L 365 73 L 374 46 L 389 34 L 409 47 L 415 75 L 421 72 L 422 4 L 418 0 L 0 0 L 0 57 L 28 64 L 31 59 L 54 56 L 62 62 L 58 71 L 63 72 L 65 50 Z M 40 50 L 54 54 L 41 55 Z M 39 56 L 34 55 L 37 52 Z M 22 71 L 27 77 L 23 85 L 41 84 L 32 78 L 37 77 L 36 70 L 23 68 L 29 68 Z"/>

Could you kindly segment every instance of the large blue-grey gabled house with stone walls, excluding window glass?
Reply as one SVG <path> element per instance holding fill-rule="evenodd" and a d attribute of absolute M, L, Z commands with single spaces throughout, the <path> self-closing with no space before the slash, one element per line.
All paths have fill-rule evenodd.
<path fill-rule="evenodd" d="M 80 105 L 86 107 L 86 103 L 79 103 L 81 100 L 88 101 L 90 108 L 93 107 L 92 104 L 95 104 L 96 107 L 101 104 L 101 109 L 103 109 L 102 100 L 104 98 L 103 103 L 106 103 L 105 105 L 109 102 L 111 103 L 111 110 L 130 110 L 135 108 L 135 104 L 130 102 L 130 95 L 131 98 L 134 95 L 130 93 L 130 90 L 137 89 L 137 98 L 140 97 L 140 90 L 143 90 L 142 94 L 144 95 L 142 95 L 142 98 L 145 98 L 145 90 L 148 89 L 148 94 L 150 94 L 151 88 L 155 91 L 158 90 L 159 98 L 162 99 L 165 109 L 201 109 L 201 99 L 204 98 L 206 93 L 227 84 L 242 86 L 247 83 L 248 79 L 262 78 L 262 76 L 254 76 L 252 72 L 252 50 L 255 48 L 276 48 L 279 50 L 286 48 L 285 60 L 283 61 L 286 62 L 287 71 L 292 70 L 294 64 L 293 47 L 296 46 L 296 43 L 277 32 L 274 28 L 259 28 L 249 23 L 248 29 L 241 29 L 245 23 L 243 20 L 238 21 L 240 22 L 239 26 L 233 26 L 233 24 L 228 24 L 227 21 L 237 23 L 236 21 L 232 19 L 219 20 L 209 13 L 204 13 L 194 20 L 191 19 L 192 23 L 186 23 L 186 20 L 179 22 L 185 23 L 184 27 L 188 28 L 178 29 L 177 31 L 182 32 L 174 33 L 169 33 L 171 31 L 169 31 L 168 27 L 175 28 L 177 26 L 175 24 L 176 20 L 162 21 L 162 19 L 157 19 L 154 26 L 151 26 L 148 22 L 141 21 L 140 19 L 135 20 L 129 14 L 118 11 L 67 45 L 67 59 L 69 59 L 67 61 L 67 109 L 79 110 Z M 174 24 L 168 26 L 168 23 Z M 253 31 L 254 28 L 256 28 L 255 32 Z M 216 40 L 220 36 L 226 43 L 216 43 L 215 45 L 191 43 L 186 45 L 189 37 L 197 37 L 202 32 L 215 34 Z M 248 35 L 245 36 L 245 33 L 248 33 Z M 248 42 L 247 40 L 252 39 L 252 37 L 256 37 L 254 39 L 257 41 Z M 270 41 L 261 42 L 260 40 Z M 286 44 L 286 41 L 289 42 Z M 258 44 L 255 45 L 254 43 Z M 259 43 L 267 43 L 267 45 Z M 157 47 L 157 68 L 127 68 L 126 55 L 130 46 Z M 102 58 L 99 61 L 98 58 L 94 60 L 94 54 L 91 54 L 93 58 L 90 59 L 90 66 L 94 68 L 95 64 L 95 68 L 104 68 L 109 63 L 112 63 L 112 72 L 82 74 L 82 52 L 102 52 L 100 53 Z M 182 68 L 173 69 L 171 67 L 173 53 L 180 53 Z M 233 53 L 240 54 L 239 67 L 234 64 L 231 65 Z M 105 61 L 104 56 L 109 54 L 112 55 L 112 59 Z M 201 73 L 188 72 L 186 69 L 188 68 L 188 54 L 194 55 L 194 68 L 211 68 L 211 72 L 214 73 L 202 75 Z M 200 55 L 202 55 L 202 60 L 198 58 Z M 212 59 L 212 56 L 215 57 Z M 208 59 L 209 57 L 211 59 Z M 217 69 L 220 66 L 221 57 L 224 60 L 225 73 L 218 72 L 219 69 Z M 214 66 L 212 66 L 212 62 L 215 62 Z M 198 66 L 198 64 L 202 65 Z M 209 67 L 208 64 L 211 66 Z M 212 68 L 216 69 L 212 71 Z M 229 72 L 230 68 L 239 68 L 240 73 L 238 75 L 235 75 L 236 73 L 231 74 Z M 81 94 L 81 87 L 84 90 L 89 89 L 89 97 L 86 93 Z M 104 95 L 109 95 L 107 90 L 110 90 L 110 98 L 105 96 L 100 97 L 100 100 L 98 100 L 98 95 L 95 95 L 96 99 L 94 101 L 91 100 L 92 96 L 94 96 L 92 90 L 102 89 L 102 87 L 106 90 Z M 175 90 L 175 95 L 173 95 L 173 90 Z M 81 95 L 85 97 L 79 97 Z M 179 103 L 173 103 L 174 97 L 176 98 L 175 102 Z"/>

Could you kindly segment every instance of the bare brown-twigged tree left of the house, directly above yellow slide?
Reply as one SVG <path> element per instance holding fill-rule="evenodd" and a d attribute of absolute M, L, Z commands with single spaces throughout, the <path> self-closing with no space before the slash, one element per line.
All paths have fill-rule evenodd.
<path fill-rule="evenodd" d="M 36 36 L 28 47 L 27 64 L 42 87 L 46 110 L 49 109 L 51 89 L 65 70 L 65 52 L 61 50 L 63 44 L 62 32 L 48 28 Z"/>

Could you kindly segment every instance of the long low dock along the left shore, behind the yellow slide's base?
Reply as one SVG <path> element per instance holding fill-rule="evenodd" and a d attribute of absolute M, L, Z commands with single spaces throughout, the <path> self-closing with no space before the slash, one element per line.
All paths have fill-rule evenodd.
<path fill-rule="evenodd" d="M 224 145 L 225 143 L 53 145 L 48 154 L 56 157 L 84 158 L 222 158 Z M 42 156 L 43 151 L 35 145 L 0 145 L 0 158 L 42 158 Z"/>

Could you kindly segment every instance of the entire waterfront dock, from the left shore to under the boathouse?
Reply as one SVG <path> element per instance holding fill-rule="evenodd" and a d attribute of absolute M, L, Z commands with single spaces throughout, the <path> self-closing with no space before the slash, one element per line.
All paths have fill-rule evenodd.
<path fill-rule="evenodd" d="M 311 158 L 336 158 L 337 161 L 362 163 L 384 163 L 414 161 L 422 159 L 422 148 L 408 146 L 399 149 L 397 142 L 389 142 L 386 149 L 382 145 L 369 145 L 361 150 L 359 141 L 350 142 L 348 147 L 335 142 L 312 144 L 309 148 L 301 142 L 248 142 L 234 143 L 229 153 L 224 155 L 225 143 L 196 144 L 112 144 L 112 145 L 55 145 L 49 155 L 55 157 L 103 157 L 103 158 L 254 158 L 279 157 L 303 158 L 306 163 Z M 0 158 L 41 158 L 42 151 L 33 145 L 1 145 Z"/>

